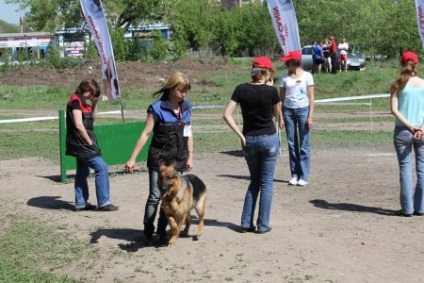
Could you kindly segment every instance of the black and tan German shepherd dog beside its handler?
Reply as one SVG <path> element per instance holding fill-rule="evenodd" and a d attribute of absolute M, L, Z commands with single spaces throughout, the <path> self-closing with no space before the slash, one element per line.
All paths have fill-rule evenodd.
<path fill-rule="evenodd" d="M 168 217 L 172 232 L 168 245 L 175 245 L 184 222 L 186 225 L 181 235 L 188 235 L 191 224 L 190 212 L 193 208 L 199 217 L 196 236 L 202 235 L 206 203 L 205 183 L 194 174 L 180 175 L 173 165 L 162 165 L 158 187 L 161 191 L 162 209 Z"/>

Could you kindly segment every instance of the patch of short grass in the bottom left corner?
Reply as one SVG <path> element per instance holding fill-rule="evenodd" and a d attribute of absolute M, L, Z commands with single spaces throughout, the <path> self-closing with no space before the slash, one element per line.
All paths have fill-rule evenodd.
<path fill-rule="evenodd" d="M 80 282 L 51 272 L 93 258 L 97 249 L 22 215 L 0 216 L 4 230 L 0 241 L 0 282 Z"/>

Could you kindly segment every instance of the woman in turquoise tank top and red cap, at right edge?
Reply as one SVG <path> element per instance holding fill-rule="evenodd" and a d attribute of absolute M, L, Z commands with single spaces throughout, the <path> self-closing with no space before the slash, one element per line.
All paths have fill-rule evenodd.
<path fill-rule="evenodd" d="M 424 215 L 424 80 L 418 76 L 418 56 L 407 51 L 401 57 L 400 77 L 391 85 L 390 108 L 396 118 L 393 144 L 399 163 L 400 206 L 398 215 Z M 417 182 L 412 177 L 415 151 Z"/>

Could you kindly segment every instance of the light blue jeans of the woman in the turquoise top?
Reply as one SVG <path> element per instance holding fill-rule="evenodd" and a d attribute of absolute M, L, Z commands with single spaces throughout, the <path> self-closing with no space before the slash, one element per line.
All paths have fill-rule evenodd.
<path fill-rule="evenodd" d="M 414 140 L 413 134 L 406 127 L 395 127 L 393 144 L 399 162 L 400 205 L 404 214 L 414 211 L 424 212 L 424 139 Z M 415 194 L 412 181 L 412 147 L 415 151 L 415 171 L 417 185 Z"/>

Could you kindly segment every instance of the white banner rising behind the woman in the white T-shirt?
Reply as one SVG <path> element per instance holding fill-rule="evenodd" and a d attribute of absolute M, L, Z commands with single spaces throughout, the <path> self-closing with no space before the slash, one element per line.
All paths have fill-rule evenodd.
<path fill-rule="evenodd" d="M 284 54 L 292 50 L 300 51 L 299 28 L 292 0 L 268 0 L 275 33 Z"/>

